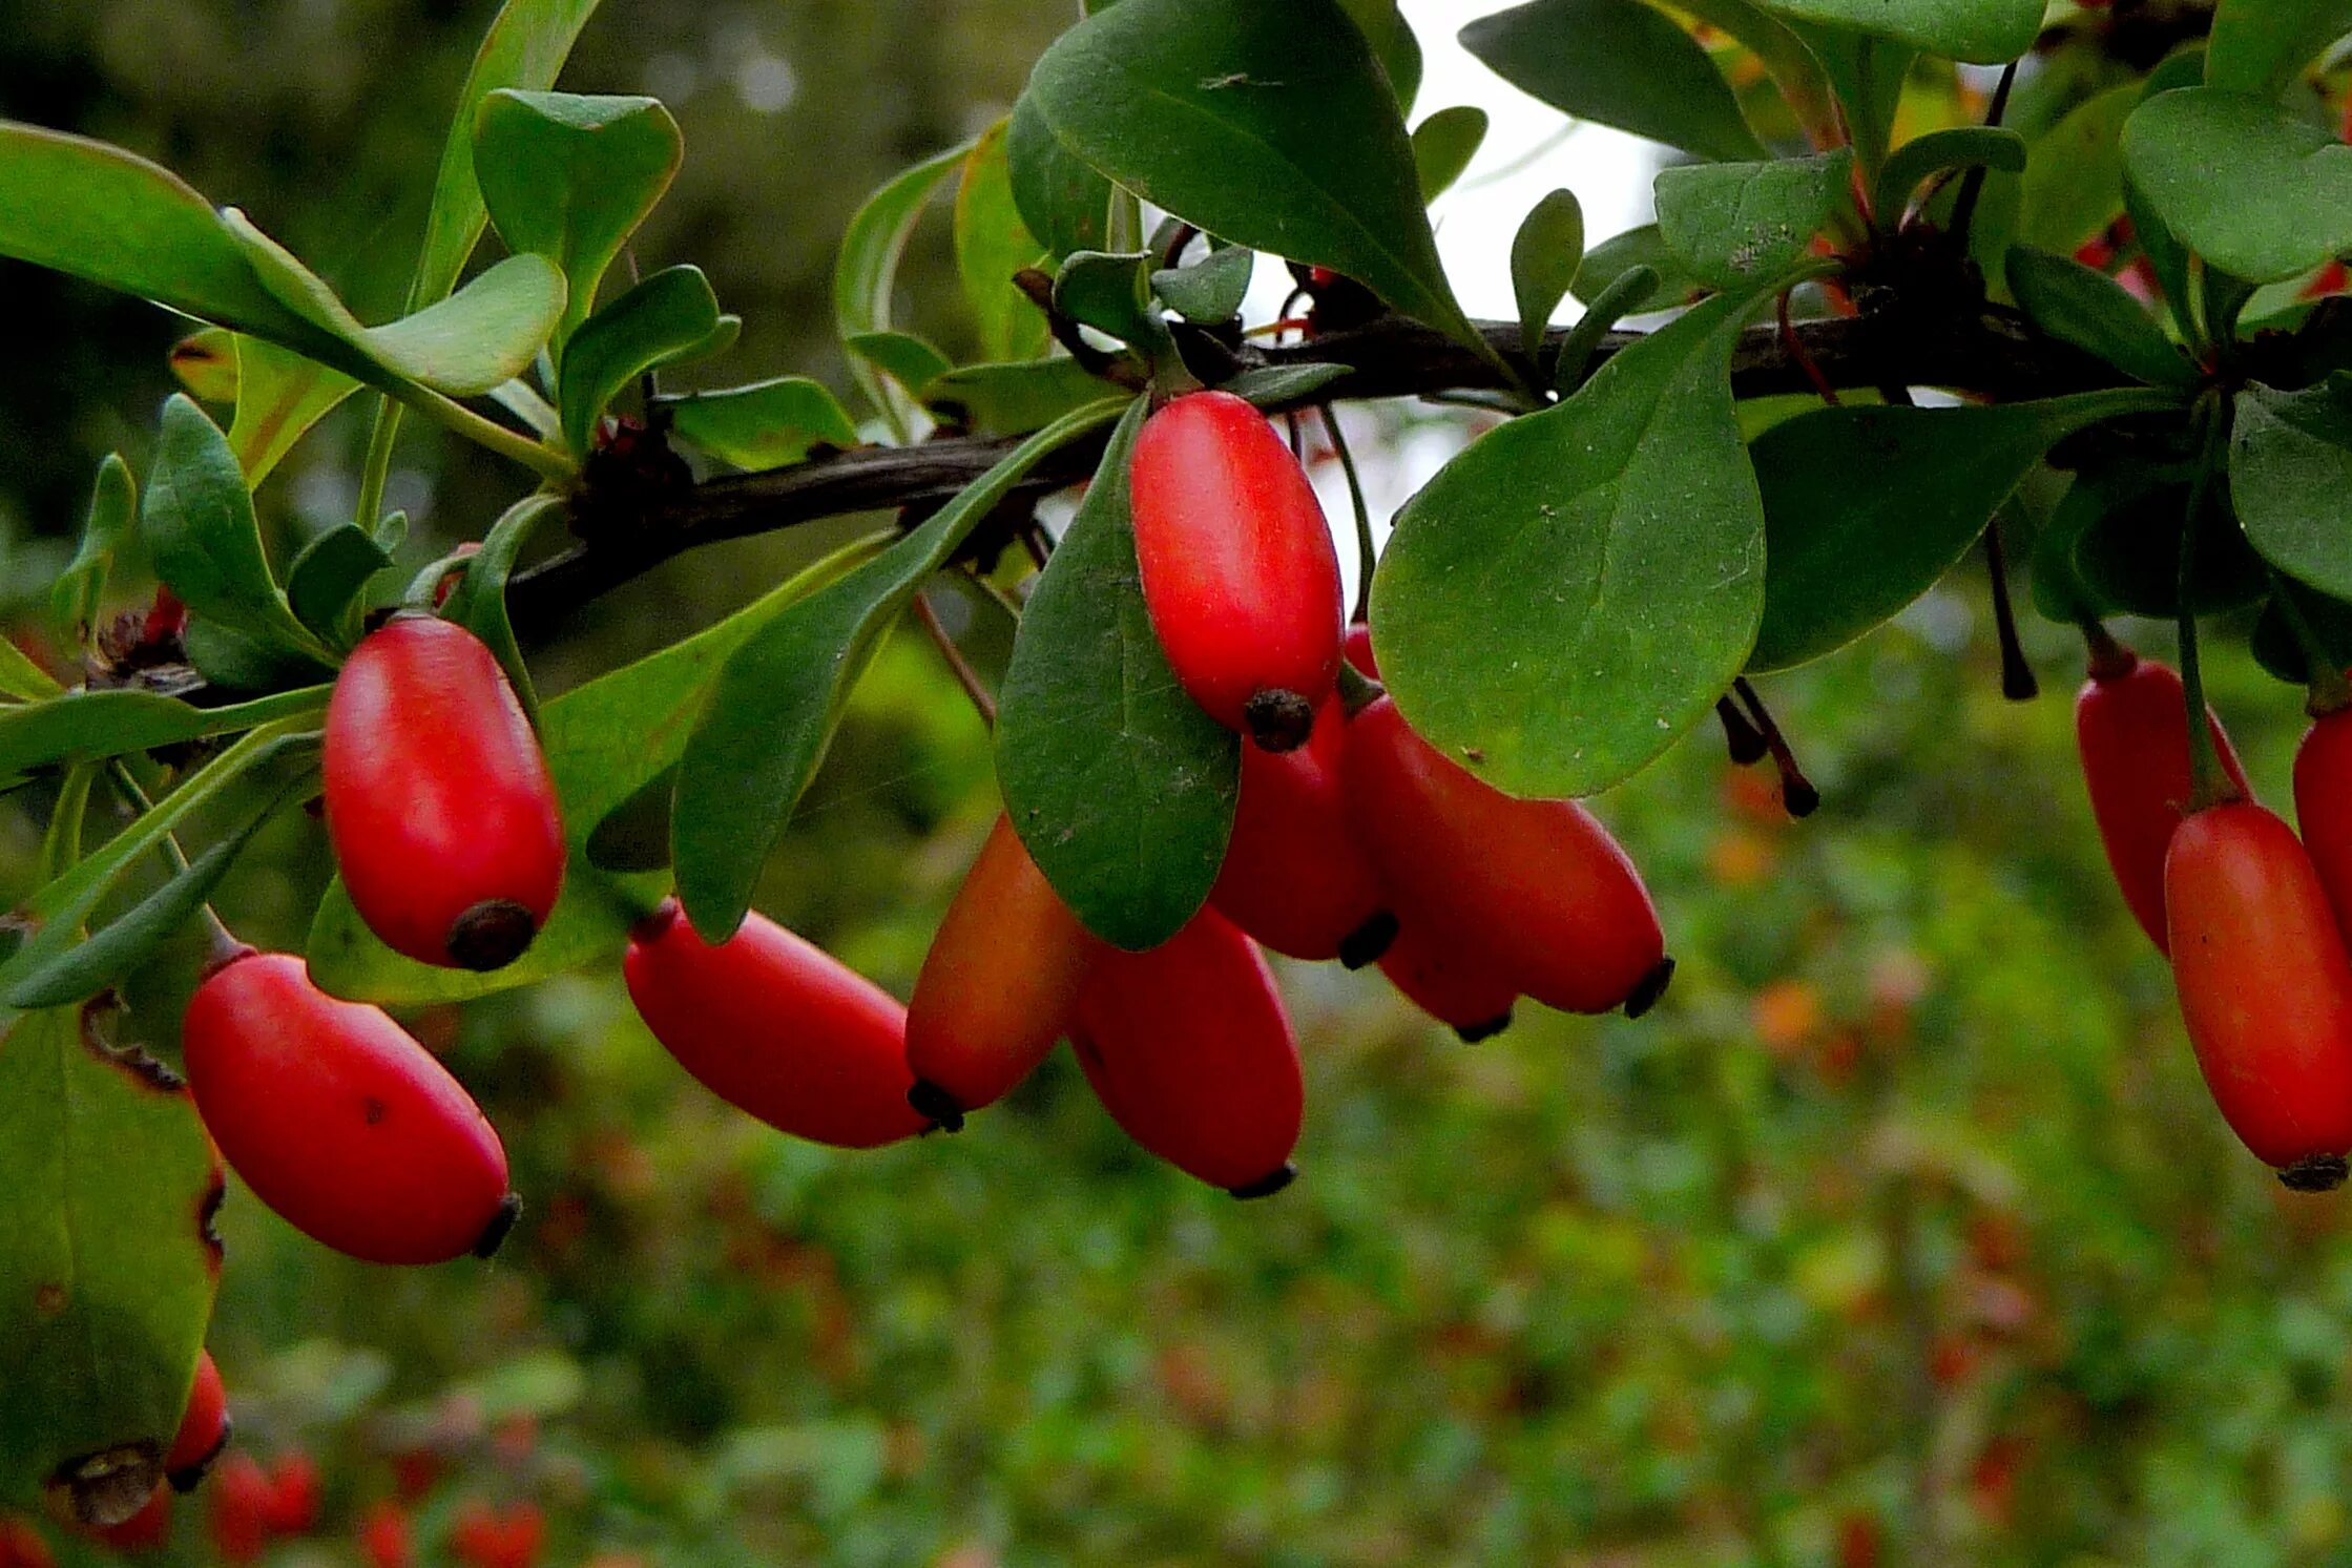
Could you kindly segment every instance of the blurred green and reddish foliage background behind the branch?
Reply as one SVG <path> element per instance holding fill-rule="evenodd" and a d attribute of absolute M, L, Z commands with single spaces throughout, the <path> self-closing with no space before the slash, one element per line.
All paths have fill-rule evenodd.
<path fill-rule="evenodd" d="M 687 169 L 637 261 L 696 261 L 746 315 L 713 378 L 840 383 L 849 212 L 1002 113 L 1068 9 L 607 5 L 564 85 L 677 113 Z M 412 254 L 487 12 L 16 0 L 0 113 L 162 158 L 365 294 Z M 903 277 L 960 348 L 943 223 Z M 0 284 L 0 609 L 31 630 L 94 461 L 143 465 L 176 334 L 31 268 Z M 515 477 L 409 437 L 421 562 Z M 280 550 L 343 515 L 362 440 L 346 411 L 263 491 Z M 543 684 L 811 548 L 673 562 L 539 649 Z M 612 973 L 412 1018 L 529 1213 L 494 1265 L 388 1272 L 230 1204 L 212 1347 L 240 1446 L 327 1476 L 273 1561 L 360 1561 L 353 1521 L 397 1488 L 421 1563 L 477 1500 L 541 1505 L 543 1561 L 602 1568 L 2352 1561 L 2345 1204 L 2281 1192 L 2211 1112 L 2077 780 L 2079 649 L 2027 632 L 2049 691 L 2011 705 L 1971 562 L 1769 682 L 1809 823 L 1712 729 L 1602 804 L 1682 959 L 1639 1025 L 1522 1009 L 1470 1048 L 1376 976 L 1287 969 L 1308 1131 L 1268 1204 L 1141 1157 L 1068 1056 L 960 1138 L 858 1157 L 724 1110 Z M 2234 644 L 2216 665 L 2284 802 L 2298 693 Z M 983 729 L 898 637 L 762 905 L 906 994 L 990 813 Z M 325 875 L 289 813 L 223 910 L 294 943 Z M 165 1053 L 193 961 L 132 997 Z M 202 1493 L 160 1561 L 214 1561 Z"/>

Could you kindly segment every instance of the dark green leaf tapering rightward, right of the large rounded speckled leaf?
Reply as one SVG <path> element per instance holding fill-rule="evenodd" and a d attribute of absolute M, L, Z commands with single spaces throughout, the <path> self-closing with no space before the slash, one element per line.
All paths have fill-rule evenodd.
<path fill-rule="evenodd" d="M 2058 440 L 2164 393 L 2082 393 L 1955 409 L 1849 404 L 1757 437 L 1764 623 L 1750 670 L 1832 654 L 1926 592 Z M 1856 475 L 1867 475 L 1856 482 Z"/>

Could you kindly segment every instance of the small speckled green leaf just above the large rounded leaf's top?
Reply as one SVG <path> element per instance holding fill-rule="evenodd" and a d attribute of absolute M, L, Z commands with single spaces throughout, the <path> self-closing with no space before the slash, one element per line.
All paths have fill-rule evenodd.
<path fill-rule="evenodd" d="M 1797 266 L 1853 209 L 1853 153 L 1658 172 L 1658 235 L 1693 277 L 1745 289 Z"/>

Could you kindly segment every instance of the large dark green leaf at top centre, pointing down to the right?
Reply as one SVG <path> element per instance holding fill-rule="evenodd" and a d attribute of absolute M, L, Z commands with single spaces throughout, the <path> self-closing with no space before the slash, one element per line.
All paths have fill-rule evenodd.
<path fill-rule="evenodd" d="M 1397 96 L 1334 0 L 1120 0 L 1044 52 L 1030 96 L 1145 202 L 1491 357 L 1437 261 Z"/>

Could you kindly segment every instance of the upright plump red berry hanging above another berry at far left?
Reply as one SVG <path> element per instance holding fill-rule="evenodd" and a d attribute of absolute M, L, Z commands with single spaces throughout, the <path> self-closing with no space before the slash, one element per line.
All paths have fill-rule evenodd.
<path fill-rule="evenodd" d="M 327 703 L 327 837 L 350 905 L 419 964 L 501 969 L 564 884 L 539 736 L 480 637 L 393 616 Z"/>

